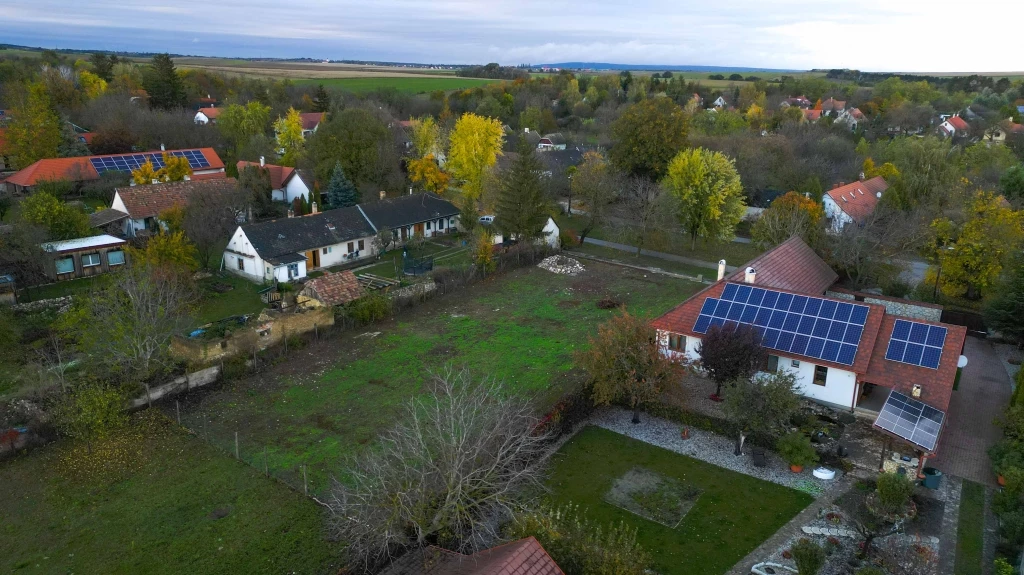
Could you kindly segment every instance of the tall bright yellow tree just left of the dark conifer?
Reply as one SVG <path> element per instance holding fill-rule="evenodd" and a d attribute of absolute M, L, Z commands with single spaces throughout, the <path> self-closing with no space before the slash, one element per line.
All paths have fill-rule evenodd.
<path fill-rule="evenodd" d="M 456 122 L 445 166 L 463 182 L 467 201 L 475 202 L 480 197 L 484 173 L 498 162 L 503 140 L 504 131 L 499 120 L 464 114 Z"/>

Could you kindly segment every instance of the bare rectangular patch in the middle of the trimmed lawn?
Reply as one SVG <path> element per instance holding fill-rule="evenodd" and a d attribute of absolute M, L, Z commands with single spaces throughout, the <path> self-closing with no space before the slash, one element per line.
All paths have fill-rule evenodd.
<path fill-rule="evenodd" d="M 675 529 L 696 503 L 700 489 L 645 468 L 633 468 L 611 484 L 604 500 Z"/>

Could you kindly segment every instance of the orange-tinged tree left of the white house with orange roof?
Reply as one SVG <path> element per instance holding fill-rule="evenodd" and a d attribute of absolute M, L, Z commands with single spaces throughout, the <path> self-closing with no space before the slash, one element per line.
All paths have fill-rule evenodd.
<path fill-rule="evenodd" d="M 800 236 L 808 246 L 817 246 L 824 234 L 824 210 L 821 205 L 791 191 L 776 197 L 758 221 L 751 235 L 762 250 L 769 250 L 793 237 Z"/>

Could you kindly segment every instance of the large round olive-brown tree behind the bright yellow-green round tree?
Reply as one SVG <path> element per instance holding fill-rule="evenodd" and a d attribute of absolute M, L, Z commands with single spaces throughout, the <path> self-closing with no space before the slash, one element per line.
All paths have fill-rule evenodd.
<path fill-rule="evenodd" d="M 671 98 L 648 98 L 628 108 L 611 125 L 611 163 L 630 175 L 659 179 L 686 147 L 689 120 Z"/>

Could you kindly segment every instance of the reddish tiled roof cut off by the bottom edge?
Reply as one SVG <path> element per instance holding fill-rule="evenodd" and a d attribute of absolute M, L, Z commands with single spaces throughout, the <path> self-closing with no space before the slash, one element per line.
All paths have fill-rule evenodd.
<path fill-rule="evenodd" d="M 473 555 L 440 547 L 414 549 L 382 575 L 564 575 L 544 546 L 526 537 Z"/>

